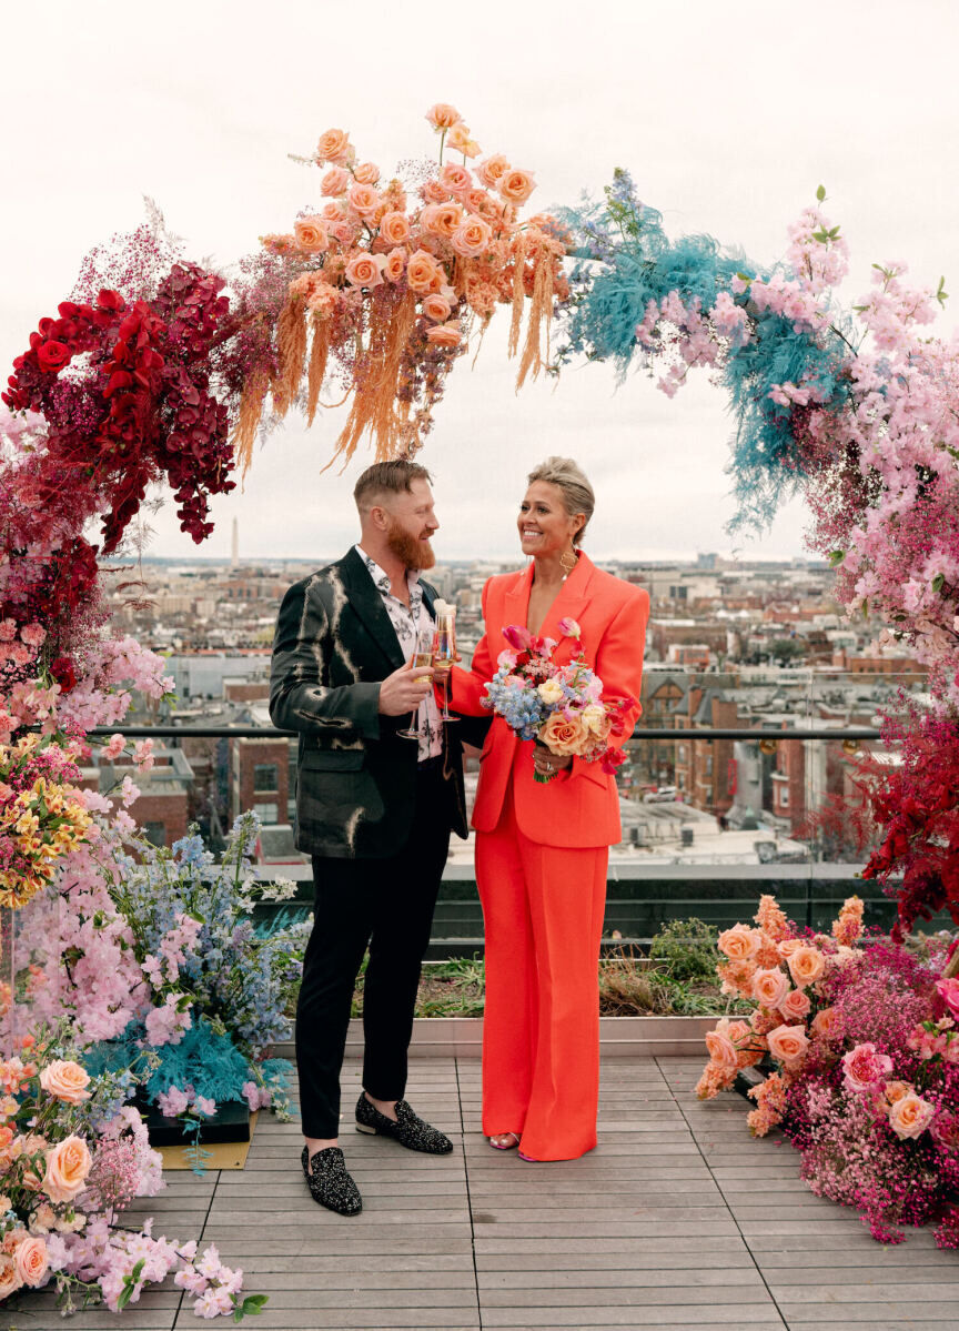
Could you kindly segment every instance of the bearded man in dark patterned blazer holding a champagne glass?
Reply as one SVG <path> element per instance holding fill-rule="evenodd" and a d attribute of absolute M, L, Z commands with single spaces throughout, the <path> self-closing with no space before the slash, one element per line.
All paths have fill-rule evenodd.
<path fill-rule="evenodd" d="M 450 832 L 466 837 L 463 764 L 444 736 L 432 671 L 410 668 L 432 627 L 420 570 L 439 527 L 430 473 L 368 467 L 354 490 L 358 546 L 290 587 L 273 648 L 270 716 L 299 731 L 297 845 L 313 856 L 315 909 L 297 1008 L 302 1163 L 321 1206 L 362 1199 L 339 1149 L 339 1073 L 363 954 L 359 1131 L 447 1154 L 452 1143 L 403 1099 L 420 964 Z M 420 739 L 398 735 L 418 709 Z"/>

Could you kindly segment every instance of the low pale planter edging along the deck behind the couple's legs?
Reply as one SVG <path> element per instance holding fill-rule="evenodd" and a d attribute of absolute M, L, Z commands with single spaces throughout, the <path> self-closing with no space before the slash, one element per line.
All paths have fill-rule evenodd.
<path fill-rule="evenodd" d="M 714 1017 L 601 1017 L 600 1054 L 603 1058 L 706 1057 L 705 1036 L 716 1026 Z M 434 1058 L 479 1058 L 483 1051 L 481 1017 L 416 1017 L 410 1051 Z M 293 1058 L 293 1040 L 277 1045 L 278 1058 Z M 363 1022 L 354 1018 L 346 1037 L 347 1057 L 363 1053 Z"/>

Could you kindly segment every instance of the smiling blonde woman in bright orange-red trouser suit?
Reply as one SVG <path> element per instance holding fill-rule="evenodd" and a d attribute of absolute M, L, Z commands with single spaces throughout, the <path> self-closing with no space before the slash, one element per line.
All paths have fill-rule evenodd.
<path fill-rule="evenodd" d="M 629 736 L 649 596 L 579 550 L 593 504 L 589 482 L 568 458 L 548 458 L 529 474 L 517 526 L 531 563 L 483 588 L 485 632 L 471 669 L 452 671 L 454 709 L 483 713 L 505 627 L 557 639 L 563 662 L 576 647 L 559 631 L 569 618 L 604 696 L 636 699 L 617 743 Z M 535 772 L 552 780 L 540 784 Z M 520 1146 L 524 1159 L 573 1159 L 596 1145 L 597 960 L 609 847 L 621 837 L 616 783 L 599 763 L 520 741 L 497 716 L 472 825 L 485 924 L 483 1131 L 499 1150 Z"/>

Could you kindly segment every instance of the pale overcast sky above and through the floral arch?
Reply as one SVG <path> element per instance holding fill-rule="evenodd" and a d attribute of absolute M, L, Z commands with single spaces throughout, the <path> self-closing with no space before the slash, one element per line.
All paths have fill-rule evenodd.
<path fill-rule="evenodd" d="M 626 166 L 670 233 L 710 232 L 758 264 L 825 184 L 853 257 L 904 258 L 959 286 L 959 92 L 951 0 L 45 0 L 4 16 L 0 359 L 55 314 L 84 253 L 157 200 L 188 253 L 227 268 L 319 201 L 309 153 L 330 126 L 392 172 L 435 152 L 423 113 L 452 101 L 483 154 L 532 169 L 536 209 L 601 190 Z M 959 299 L 959 290 L 956 290 Z M 942 322 L 951 327 L 955 311 Z M 803 552 L 790 504 L 762 540 L 733 543 L 724 475 L 732 425 L 700 373 L 669 401 L 642 375 L 567 370 L 513 393 L 500 310 L 475 370 L 448 379 L 420 454 L 435 474 L 442 558 L 519 554 L 525 473 L 575 457 L 597 491 L 588 548 L 601 558 Z M 7 371 L 3 371 L 5 378 Z M 347 473 L 321 474 L 338 421 L 291 419 L 258 451 L 242 495 L 214 503 L 194 547 L 173 504 L 152 519 L 157 555 L 334 556 L 355 536 Z"/>

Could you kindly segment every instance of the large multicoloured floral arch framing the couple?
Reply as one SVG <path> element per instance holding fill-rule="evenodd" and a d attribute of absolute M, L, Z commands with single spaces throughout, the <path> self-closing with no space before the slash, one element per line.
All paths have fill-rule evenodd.
<path fill-rule="evenodd" d="M 197 1121 L 214 1083 L 242 1086 L 251 1105 L 282 1101 L 282 1073 L 263 1050 L 295 972 L 293 941 L 275 954 L 242 941 L 261 968 L 259 1006 L 235 1017 L 245 1040 L 223 1037 L 215 1058 L 207 1041 L 215 1077 L 182 1101 L 177 1078 L 200 1083 L 202 1071 L 190 1063 L 190 1032 L 202 1021 L 197 957 L 211 944 L 189 902 L 209 890 L 209 856 L 190 839 L 173 870 L 162 857 L 130 856 L 134 773 L 109 800 L 76 788 L 89 732 L 120 725 L 132 689 L 160 697 L 168 688 L 162 662 L 105 632 L 98 559 L 122 548 L 157 483 L 170 486 L 182 528 L 202 542 L 210 495 L 249 467 L 261 426 L 294 406 L 313 422 L 325 394 L 350 402 L 335 454 L 348 459 L 368 437 L 376 457 L 412 455 L 450 371 L 500 305 L 517 387 L 585 357 L 622 375 L 645 366 L 672 397 L 706 369 L 736 422 L 736 522 L 762 524 L 783 495 L 807 498 L 810 546 L 835 566 L 839 600 L 850 614 L 882 615 L 883 636 L 907 640 L 930 669 L 932 705 L 886 721 L 902 767 L 863 768 L 863 797 L 885 828 L 865 872 L 903 872 L 894 889 L 903 929 L 943 905 L 959 921 L 959 357 L 955 341 L 928 334 L 943 284 L 911 287 L 904 265 L 874 265 L 870 291 L 845 310 L 835 289 L 846 244 L 822 190 L 770 269 L 710 237 L 670 241 L 625 172 L 600 204 L 524 214 L 529 170 L 483 157 L 455 108 L 438 104 L 427 118 L 439 160 L 408 166 L 404 181 L 383 180 L 346 132 L 327 130 L 302 158 L 322 172 L 321 201 L 287 233 L 262 237 L 229 285 L 186 260 L 152 216 L 88 256 L 69 299 L 40 319 L 13 363 L 0 457 L 0 904 L 7 944 L 11 912 L 27 908 L 33 938 L 53 946 L 8 972 L 7 1040 L 16 1034 L 20 1046 L 7 1050 L 13 1126 L 0 1135 L 12 1138 L 45 1105 L 48 1141 L 33 1143 L 35 1165 L 49 1174 L 53 1151 L 67 1182 L 51 1175 L 47 1189 L 59 1226 L 53 1235 L 47 1226 L 49 1242 L 33 1242 L 36 1225 L 28 1233 L 27 1202 L 9 1222 L 11 1246 L 29 1239 L 33 1262 L 7 1272 L 11 1287 L 47 1279 L 41 1247 L 67 1287 L 93 1270 L 86 1283 L 112 1307 L 173 1267 L 188 1286 L 194 1279 L 192 1252 L 148 1239 L 137 1267 L 134 1247 L 102 1218 L 157 1183 L 140 1117 L 121 1109 L 136 1077 Z M 124 748 L 114 737 L 109 756 Z M 132 757 L 149 768 L 149 743 Z M 239 827 L 229 909 L 246 900 L 247 851 Z M 39 1034 L 24 1028 L 27 1009 Z M 63 1022 L 69 1047 L 97 1070 L 96 1093 L 70 1059 L 59 1061 L 59 1079 L 47 1077 L 53 1090 L 41 1085 L 36 1041 L 59 1049 Z M 92 1157 L 60 1150 L 84 1131 L 97 1142 Z M 128 1193 L 109 1201 L 104 1182 L 94 1236 L 70 1229 L 77 1181 L 116 1178 L 120 1158 Z M 24 1163 L 20 1201 L 27 1173 Z M 229 1274 L 211 1275 L 205 1291 L 211 1310 L 215 1299 L 223 1312 L 242 1303 Z"/>

